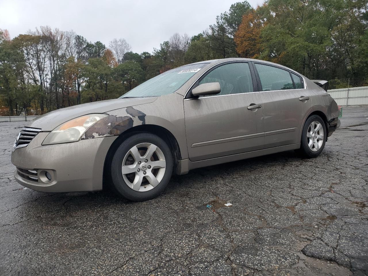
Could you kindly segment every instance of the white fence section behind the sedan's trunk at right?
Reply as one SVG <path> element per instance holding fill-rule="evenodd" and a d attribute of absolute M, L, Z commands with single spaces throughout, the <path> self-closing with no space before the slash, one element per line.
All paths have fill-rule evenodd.
<path fill-rule="evenodd" d="M 368 86 L 330 89 L 327 91 L 337 105 L 368 105 Z"/>

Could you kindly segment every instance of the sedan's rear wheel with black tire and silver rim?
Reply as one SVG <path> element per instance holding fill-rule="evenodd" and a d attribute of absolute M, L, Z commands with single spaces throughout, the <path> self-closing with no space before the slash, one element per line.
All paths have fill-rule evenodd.
<path fill-rule="evenodd" d="M 312 131 L 312 127 L 314 127 L 314 131 Z M 325 122 L 318 115 L 312 115 L 305 121 L 298 152 L 306 158 L 315 158 L 323 151 L 326 138 Z"/>

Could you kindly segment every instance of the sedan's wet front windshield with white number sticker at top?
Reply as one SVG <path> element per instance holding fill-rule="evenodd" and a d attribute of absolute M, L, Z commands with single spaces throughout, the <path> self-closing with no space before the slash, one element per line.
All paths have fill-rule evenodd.
<path fill-rule="evenodd" d="M 188 81 L 201 68 L 208 63 L 199 63 L 181 66 L 166 71 L 125 93 L 120 98 L 126 97 L 152 97 L 163 96 L 177 91 L 185 82 Z"/>

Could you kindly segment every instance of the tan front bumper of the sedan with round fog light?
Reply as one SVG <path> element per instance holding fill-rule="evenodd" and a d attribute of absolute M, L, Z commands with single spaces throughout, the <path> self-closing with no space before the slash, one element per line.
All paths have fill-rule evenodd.
<path fill-rule="evenodd" d="M 106 154 L 117 136 L 41 145 L 47 134 L 39 132 L 28 146 L 12 153 L 15 180 L 40 192 L 102 190 Z"/>

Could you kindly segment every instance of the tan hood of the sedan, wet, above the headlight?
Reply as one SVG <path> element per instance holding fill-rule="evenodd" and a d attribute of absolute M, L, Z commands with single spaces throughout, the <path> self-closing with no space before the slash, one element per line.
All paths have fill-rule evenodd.
<path fill-rule="evenodd" d="M 91 113 L 106 113 L 111 110 L 120 109 L 129 106 L 142 105 L 152 103 L 157 97 L 150 98 L 118 98 L 113 100 L 103 100 L 93 103 L 84 103 L 82 105 L 74 105 L 52 112 L 43 114 L 32 121 L 26 127 L 41 128 L 42 131 L 52 131 L 57 126 L 74 119 Z"/>

